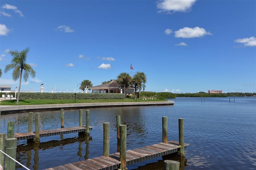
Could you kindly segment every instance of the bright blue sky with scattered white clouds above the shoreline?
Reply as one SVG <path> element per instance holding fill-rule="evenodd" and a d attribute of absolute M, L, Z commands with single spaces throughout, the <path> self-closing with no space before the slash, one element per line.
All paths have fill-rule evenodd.
<path fill-rule="evenodd" d="M 0 84 L 10 50 L 30 47 L 21 91 L 79 92 L 134 70 L 145 91 L 256 92 L 255 0 L 1 0 Z"/>

